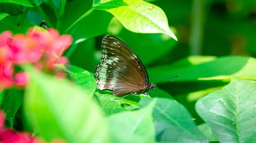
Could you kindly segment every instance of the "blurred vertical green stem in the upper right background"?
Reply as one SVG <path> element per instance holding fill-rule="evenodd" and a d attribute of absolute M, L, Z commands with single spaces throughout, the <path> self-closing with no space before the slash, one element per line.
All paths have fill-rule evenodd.
<path fill-rule="evenodd" d="M 193 0 L 190 48 L 191 55 L 201 55 L 204 35 L 205 0 Z"/>

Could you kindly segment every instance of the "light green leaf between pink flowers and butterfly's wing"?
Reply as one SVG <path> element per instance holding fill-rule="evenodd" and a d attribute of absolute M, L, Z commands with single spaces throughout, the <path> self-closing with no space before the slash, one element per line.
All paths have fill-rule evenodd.
<path fill-rule="evenodd" d="M 93 96 L 96 90 L 96 80 L 88 71 L 83 71 L 83 69 L 73 65 L 55 64 L 55 66 L 67 71 L 69 77 L 77 84 L 81 85 L 83 90 L 86 92 L 86 95 L 89 95 L 90 97 Z"/>

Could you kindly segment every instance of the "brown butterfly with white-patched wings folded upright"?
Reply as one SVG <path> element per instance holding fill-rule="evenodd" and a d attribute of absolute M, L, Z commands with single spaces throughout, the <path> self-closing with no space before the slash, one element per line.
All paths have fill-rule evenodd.
<path fill-rule="evenodd" d="M 148 73 L 134 51 L 111 35 L 102 40 L 102 58 L 94 77 L 99 90 L 112 90 L 114 96 L 145 94 L 157 86 L 148 81 Z"/>

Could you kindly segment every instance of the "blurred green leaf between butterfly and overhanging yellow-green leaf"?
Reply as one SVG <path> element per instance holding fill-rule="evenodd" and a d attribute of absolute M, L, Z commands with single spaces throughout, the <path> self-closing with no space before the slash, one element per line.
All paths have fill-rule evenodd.
<path fill-rule="evenodd" d="M 144 65 L 162 57 L 177 45 L 177 41 L 166 34 L 140 34 L 128 31 L 115 17 L 108 26 L 108 33 L 122 39 L 140 57 Z"/>

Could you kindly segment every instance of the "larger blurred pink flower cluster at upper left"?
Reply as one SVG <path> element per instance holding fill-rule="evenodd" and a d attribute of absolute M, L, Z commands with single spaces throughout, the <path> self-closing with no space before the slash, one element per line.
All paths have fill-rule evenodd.
<path fill-rule="evenodd" d="M 38 70 L 48 72 L 55 70 L 53 64 L 67 64 L 66 57 L 61 56 L 69 48 L 73 39 L 70 35 L 61 35 L 57 30 L 51 32 L 29 29 L 26 34 L 4 31 L 0 34 L 0 91 L 5 88 L 24 87 L 28 75 L 15 71 L 14 65 L 26 62 L 34 64 Z M 55 71 L 60 76 L 60 70 Z"/>

